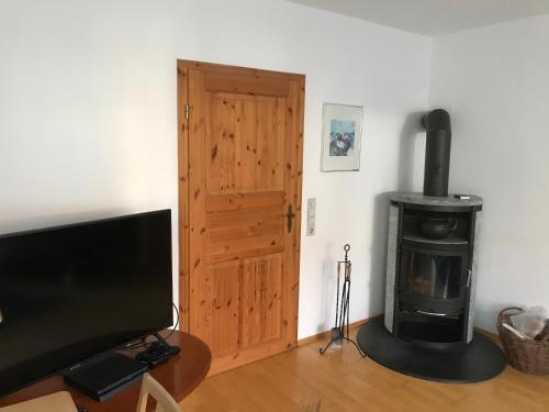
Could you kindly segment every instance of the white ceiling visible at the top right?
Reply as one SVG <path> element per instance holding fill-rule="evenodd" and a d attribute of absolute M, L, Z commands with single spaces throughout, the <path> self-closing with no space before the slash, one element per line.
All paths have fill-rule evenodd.
<path fill-rule="evenodd" d="M 290 0 L 436 36 L 549 13 L 549 0 Z"/>

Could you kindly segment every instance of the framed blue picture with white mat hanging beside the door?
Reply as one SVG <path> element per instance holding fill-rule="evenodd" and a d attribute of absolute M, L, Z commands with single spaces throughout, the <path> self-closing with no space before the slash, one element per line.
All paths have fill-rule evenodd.
<path fill-rule="evenodd" d="M 321 170 L 359 170 L 361 134 L 361 105 L 324 103 Z"/>

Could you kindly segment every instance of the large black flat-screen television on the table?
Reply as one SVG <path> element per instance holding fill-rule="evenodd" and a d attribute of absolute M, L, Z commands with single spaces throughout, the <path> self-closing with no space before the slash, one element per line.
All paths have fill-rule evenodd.
<path fill-rule="evenodd" d="M 0 393 L 172 324 L 171 212 L 0 236 Z"/>

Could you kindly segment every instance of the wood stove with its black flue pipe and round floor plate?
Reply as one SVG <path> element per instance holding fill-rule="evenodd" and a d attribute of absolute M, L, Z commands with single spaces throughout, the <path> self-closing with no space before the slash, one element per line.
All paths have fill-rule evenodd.
<path fill-rule="evenodd" d="M 450 116 L 433 110 L 423 193 L 389 194 L 384 318 L 365 324 L 360 348 L 402 374 L 478 382 L 505 368 L 490 338 L 473 331 L 482 199 L 448 193 Z"/>

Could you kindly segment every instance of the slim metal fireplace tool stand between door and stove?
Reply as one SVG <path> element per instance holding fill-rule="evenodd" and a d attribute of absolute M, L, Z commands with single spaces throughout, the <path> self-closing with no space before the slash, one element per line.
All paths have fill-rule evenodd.
<path fill-rule="evenodd" d="M 350 271 L 351 263 L 348 258 L 350 246 L 347 244 L 344 246 L 345 260 L 337 261 L 337 296 L 336 296 L 336 322 L 335 326 L 332 327 L 332 338 L 328 344 L 320 349 L 321 355 L 328 349 L 329 346 L 337 345 L 340 346 L 343 341 L 347 341 L 355 345 L 360 356 L 366 357 L 366 354 L 360 349 L 355 341 L 349 337 L 349 297 L 350 297 Z M 339 299 L 339 286 L 341 278 L 341 265 L 344 267 L 344 281 L 341 288 L 341 296 Z"/>

